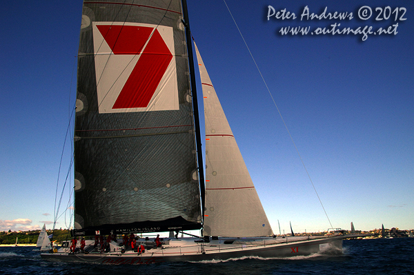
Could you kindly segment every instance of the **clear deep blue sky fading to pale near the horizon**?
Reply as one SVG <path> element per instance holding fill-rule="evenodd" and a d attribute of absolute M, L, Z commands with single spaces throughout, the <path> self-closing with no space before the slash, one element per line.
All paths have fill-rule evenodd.
<path fill-rule="evenodd" d="M 306 7 L 348 17 L 306 20 Z M 0 230 L 52 227 L 81 8 L 79 0 L 3 3 Z M 370 8 L 371 18 L 359 19 Z M 212 0 L 188 1 L 188 10 L 273 232 L 278 224 L 289 232 L 289 223 L 295 232 L 349 230 L 351 222 L 414 229 L 413 1 Z M 390 34 L 333 35 L 334 25 Z M 311 29 L 282 35 L 287 27 Z M 59 188 L 68 161 L 63 154 Z M 57 228 L 69 225 L 66 196 Z"/>

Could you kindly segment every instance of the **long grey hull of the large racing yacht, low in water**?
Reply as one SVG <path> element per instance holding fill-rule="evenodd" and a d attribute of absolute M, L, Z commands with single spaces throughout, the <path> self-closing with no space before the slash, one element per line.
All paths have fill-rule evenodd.
<path fill-rule="evenodd" d="M 178 239 L 167 242 L 164 248 L 152 248 L 144 254 L 127 251 L 89 254 L 69 254 L 68 248 L 59 249 L 52 254 L 41 254 L 50 261 L 108 263 L 114 265 L 139 265 L 177 261 L 212 261 L 258 256 L 261 258 L 279 258 L 306 256 L 319 252 L 342 253 L 342 239 L 349 236 L 324 237 L 287 237 L 262 239 L 237 239 L 233 244 L 226 240 L 195 243 L 194 239 Z M 233 239 L 234 240 L 234 239 Z M 227 241 L 228 242 L 228 241 Z M 266 244 L 267 243 L 267 244 Z M 204 251 L 204 253 L 203 253 Z"/>

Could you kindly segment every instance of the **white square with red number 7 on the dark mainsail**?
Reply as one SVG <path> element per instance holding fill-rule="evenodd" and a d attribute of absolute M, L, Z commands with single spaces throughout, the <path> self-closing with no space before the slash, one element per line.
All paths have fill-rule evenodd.
<path fill-rule="evenodd" d="M 99 112 L 177 110 L 172 28 L 139 23 L 95 26 Z M 157 104 L 152 103 L 155 98 Z"/>

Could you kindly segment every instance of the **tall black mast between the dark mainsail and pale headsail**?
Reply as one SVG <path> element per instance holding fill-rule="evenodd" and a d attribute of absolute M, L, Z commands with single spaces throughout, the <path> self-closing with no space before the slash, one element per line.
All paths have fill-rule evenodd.
<path fill-rule="evenodd" d="M 197 101 L 197 88 L 195 83 L 195 69 L 194 69 L 194 59 L 193 59 L 193 43 L 191 42 L 191 32 L 190 32 L 190 21 L 188 20 L 188 10 L 187 10 L 187 1 L 182 0 L 181 4 L 183 6 L 183 15 L 184 15 L 184 26 L 186 26 L 186 39 L 187 39 L 187 51 L 188 51 L 188 63 L 190 67 L 190 83 L 191 83 L 191 92 L 193 94 L 193 109 L 194 109 L 194 124 L 195 124 L 195 141 L 197 145 L 197 161 L 199 167 L 199 181 L 200 181 L 200 193 L 201 193 L 201 215 L 204 221 L 204 205 L 206 201 L 204 185 L 204 165 L 203 165 L 203 152 L 201 150 L 201 131 L 200 131 L 200 121 L 199 121 L 199 112 L 198 112 L 198 101 Z"/>

